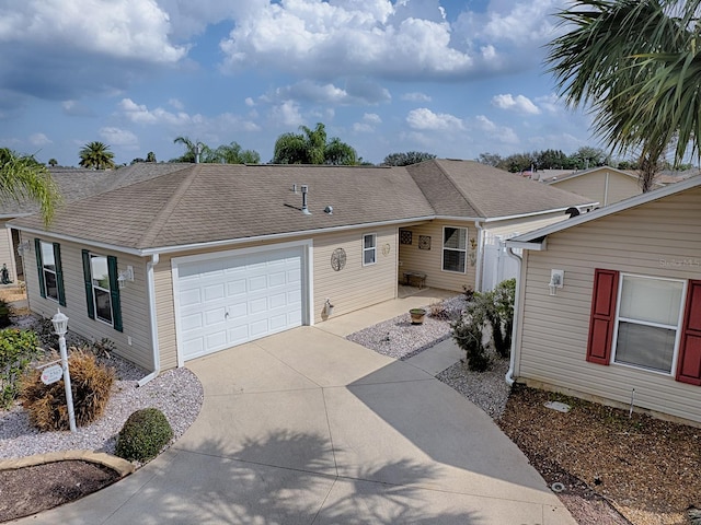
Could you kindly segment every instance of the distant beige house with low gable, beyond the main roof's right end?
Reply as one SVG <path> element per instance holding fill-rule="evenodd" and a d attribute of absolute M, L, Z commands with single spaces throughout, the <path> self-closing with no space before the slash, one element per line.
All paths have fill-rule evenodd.
<path fill-rule="evenodd" d="M 554 176 L 544 174 L 540 180 L 549 186 L 588 197 L 598 201 L 600 206 L 609 206 L 642 192 L 637 174 L 609 166 Z"/>

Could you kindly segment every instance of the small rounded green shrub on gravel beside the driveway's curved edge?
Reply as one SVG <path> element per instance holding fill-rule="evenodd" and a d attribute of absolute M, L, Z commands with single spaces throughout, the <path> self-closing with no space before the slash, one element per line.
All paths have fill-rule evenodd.
<path fill-rule="evenodd" d="M 115 454 L 130 462 L 148 462 L 173 438 L 168 419 L 158 408 L 143 408 L 134 412 L 117 436 Z"/>

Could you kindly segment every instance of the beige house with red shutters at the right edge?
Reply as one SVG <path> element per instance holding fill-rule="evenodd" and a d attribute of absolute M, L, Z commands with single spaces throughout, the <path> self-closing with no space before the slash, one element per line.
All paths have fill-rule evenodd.
<path fill-rule="evenodd" d="M 507 242 L 513 377 L 701 422 L 700 202 L 694 177 Z"/>

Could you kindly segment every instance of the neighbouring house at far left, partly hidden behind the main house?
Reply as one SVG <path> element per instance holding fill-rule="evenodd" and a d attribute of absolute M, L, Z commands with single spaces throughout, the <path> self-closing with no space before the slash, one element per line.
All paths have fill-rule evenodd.
<path fill-rule="evenodd" d="M 64 203 L 70 203 L 182 168 L 183 164 L 139 163 L 119 170 L 51 167 L 49 173 L 58 186 Z M 5 224 L 12 219 L 37 213 L 38 210 L 38 205 L 32 201 L 0 200 L 0 229 L 3 229 L 3 233 L 0 234 L 0 268 L 5 265 L 9 279 L 13 283 L 24 281 L 24 268 L 22 257 L 18 253 L 19 232 L 5 228 Z"/>

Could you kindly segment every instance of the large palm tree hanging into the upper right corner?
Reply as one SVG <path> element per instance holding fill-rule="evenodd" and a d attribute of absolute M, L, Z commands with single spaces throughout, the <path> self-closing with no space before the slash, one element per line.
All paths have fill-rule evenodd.
<path fill-rule="evenodd" d="M 547 63 L 571 107 L 590 106 L 595 132 L 635 152 L 641 185 L 674 149 L 701 152 L 701 0 L 576 0 L 558 13 L 571 31 L 550 43 Z"/>

